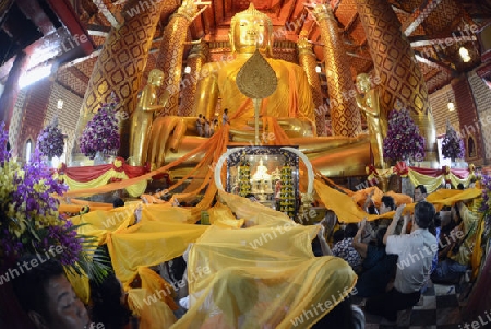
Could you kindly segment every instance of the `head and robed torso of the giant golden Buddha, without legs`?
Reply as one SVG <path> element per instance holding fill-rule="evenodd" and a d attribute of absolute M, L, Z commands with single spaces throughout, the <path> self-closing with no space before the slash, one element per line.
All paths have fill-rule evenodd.
<path fill-rule="evenodd" d="M 221 111 L 228 108 L 231 132 L 236 136 L 233 140 L 240 140 L 238 136 L 252 128 L 253 104 L 239 91 L 236 78 L 256 49 L 266 57 L 278 81 L 276 91 L 263 101 L 260 115 L 278 118 L 284 127 L 288 127 L 287 134 L 292 131 L 302 131 L 303 136 L 315 134 L 314 104 L 307 75 L 300 66 L 270 58 L 272 36 L 271 19 L 251 3 L 248 10 L 236 14 L 230 22 L 229 39 L 235 59 L 225 64 L 211 62 L 202 69 L 211 73 L 197 84 L 194 110 L 196 115 L 214 117 L 218 97 L 221 96 Z"/>

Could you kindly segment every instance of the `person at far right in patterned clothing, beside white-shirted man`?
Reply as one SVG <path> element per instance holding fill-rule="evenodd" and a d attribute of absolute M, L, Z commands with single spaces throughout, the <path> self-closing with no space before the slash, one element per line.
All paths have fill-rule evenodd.
<path fill-rule="evenodd" d="M 470 269 L 474 240 L 479 219 L 464 204 L 457 202 L 451 210 L 451 222 L 442 227 L 439 262 L 431 274 L 435 283 L 458 283 Z"/>

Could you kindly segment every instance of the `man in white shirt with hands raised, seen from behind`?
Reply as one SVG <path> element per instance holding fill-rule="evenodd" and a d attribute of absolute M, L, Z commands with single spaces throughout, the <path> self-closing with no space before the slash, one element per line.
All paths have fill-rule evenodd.
<path fill-rule="evenodd" d="M 390 321 L 397 320 L 397 310 L 410 308 L 418 303 L 438 248 L 436 238 L 428 231 L 435 210 L 427 201 L 420 201 L 415 207 L 411 233 L 405 234 L 403 231 L 400 235 L 394 235 L 405 207 L 406 204 L 397 207 L 384 235 L 385 251 L 398 255 L 394 287 L 366 303 L 366 312 L 383 316 Z M 409 216 L 405 215 L 404 221 L 408 220 Z"/>

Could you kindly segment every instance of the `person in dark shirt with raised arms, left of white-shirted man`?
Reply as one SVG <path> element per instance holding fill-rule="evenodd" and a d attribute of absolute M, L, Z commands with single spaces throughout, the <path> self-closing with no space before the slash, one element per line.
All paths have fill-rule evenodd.
<path fill-rule="evenodd" d="M 385 292 L 388 282 L 395 274 L 397 256 L 385 252 L 384 236 L 387 228 L 381 227 L 376 231 L 374 243 L 361 242 L 367 220 L 360 223 L 360 228 L 355 236 L 352 245 L 363 258 L 362 272 L 357 281 L 357 296 L 372 297 Z"/>

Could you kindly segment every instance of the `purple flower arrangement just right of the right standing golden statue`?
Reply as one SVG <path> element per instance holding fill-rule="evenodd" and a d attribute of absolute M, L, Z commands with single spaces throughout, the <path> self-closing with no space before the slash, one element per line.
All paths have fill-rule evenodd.
<path fill-rule="evenodd" d="M 424 138 L 419 133 L 406 108 L 392 110 L 388 115 L 388 131 L 383 144 L 384 157 L 393 161 L 422 161 Z"/>

